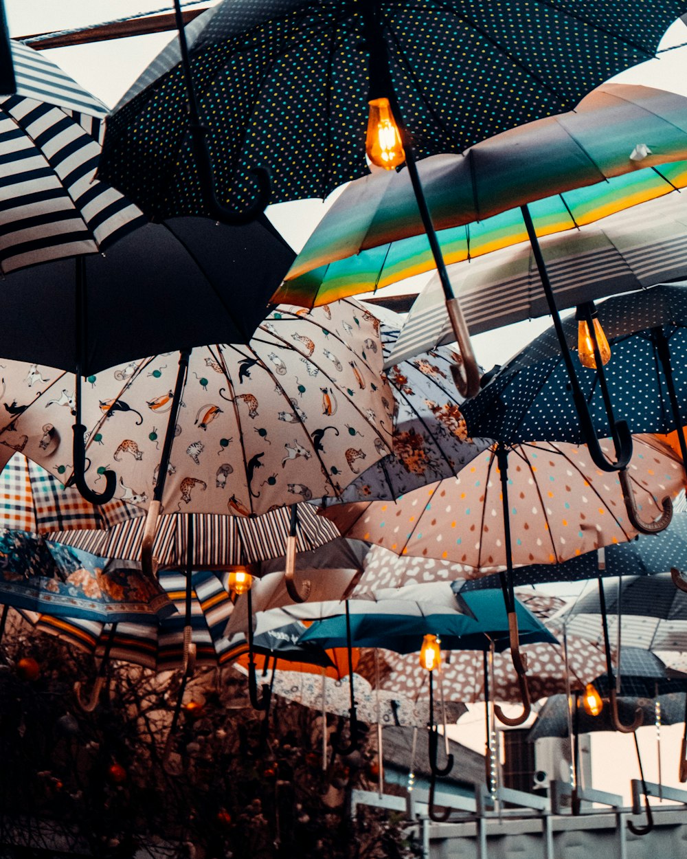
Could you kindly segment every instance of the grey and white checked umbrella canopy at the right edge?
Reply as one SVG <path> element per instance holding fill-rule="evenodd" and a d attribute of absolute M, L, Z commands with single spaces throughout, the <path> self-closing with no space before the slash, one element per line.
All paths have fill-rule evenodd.
<path fill-rule="evenodd" d="M 611 640 L 620 623 L 623 642 L 632 647 L 687 650 L 687 594 L 675 587 L 670 573 L 626 576 L 605 582 L 604 591 Z M 583 594 L 552 622 L 557 627 L 565 624 L 577 636 L 600 642 L 599 594 L 596 590 Z"/>

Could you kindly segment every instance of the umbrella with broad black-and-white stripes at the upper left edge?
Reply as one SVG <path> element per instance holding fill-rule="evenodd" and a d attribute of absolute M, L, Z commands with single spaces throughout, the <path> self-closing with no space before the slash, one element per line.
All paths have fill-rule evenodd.
<path fill-rule="evenodd" d="M 40 52 L 12 43 L 0 99 L 0 270 L 98 253 L 146 219 L 95 179 L 106 106 Z"/>

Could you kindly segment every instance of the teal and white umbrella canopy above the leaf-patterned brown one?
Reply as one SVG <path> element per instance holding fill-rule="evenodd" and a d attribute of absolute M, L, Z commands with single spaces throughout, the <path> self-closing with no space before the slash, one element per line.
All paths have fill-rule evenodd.
<path fill-rule="evenodd" d="M 387 588 L 366 600 L 349 600 L 351 641 L 356 647 L 382 647 L 397 653 L 415 653 L 426 634 L 441 638 L 446 649 L 489 649 L 495 642 L 497 650 L 508 648 L 508 616 L 501 594 L 482 591 L 468 594 L 467 611 L 461 614 L 455 602 L 456 594 L 447 582 Z M 486 599 L 483 599 L 487 596 Z M 477 597 L 477 599 L 475 599 Z M 453 607 L 452 606 L 453 598 Z M 310 606 L 289 609 L 306 616 Z M 303 633 L 301 641 L 317 642 L 323 647 L 343 647 L 346 643 L 346 618 L 343 605 L 313 606 L 308 619 L 313 622 Z M 520 641 L 555 642 L 556 638 L 544 624 L 516 601 Z"/>

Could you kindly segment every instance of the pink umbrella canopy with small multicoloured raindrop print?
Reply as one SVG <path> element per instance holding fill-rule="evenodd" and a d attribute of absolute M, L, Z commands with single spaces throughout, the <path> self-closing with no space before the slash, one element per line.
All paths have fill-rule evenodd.
<path fill-rule="evenodd" d="M 610 445 L 602 442 L 603 449 Z M 495 449 L 457 477 L 409 492 L 395 504 L 331 505 L 321 512 L 349 537 L 397 554 L 437 557 L 476 569 L 507 563 L 500 471 Z M 629 475 L 644 519 L 682 487 L 674 452 L 652 436 L 635 437 Z M 533 443 L 508 453 L 513 564 L 560 564 L 599 545 L 635 536 L 617 474 L 594 466 L 587 448 Z"/>

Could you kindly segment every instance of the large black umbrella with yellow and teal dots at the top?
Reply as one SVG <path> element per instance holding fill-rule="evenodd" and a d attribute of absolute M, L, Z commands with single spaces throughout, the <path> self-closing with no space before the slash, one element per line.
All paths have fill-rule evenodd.
<path fill-rule="evenodd" d="M 651 27 L 647 27 L 646 16 L 642 16 L 641 27 L 632 35 L 633 46 L 646 40 L 641 50 L 655 49 L 652 43 L 660 30 L 663 15 L 667 21 L 670 20 L 671 12 L 674 12 L 668 8 L 671 5 L 669 0 L 664 0 L 664 3 L 666 5 L 660 9 L 660 13 L 654 7 L 656 14 L 652 16 Z M 627 30 L 623 28 L 619 32 L 615 29 L 617 19 L 604 16 L 604 20 L 600 21 L 597 15 L 588 15 L 587 8 L 579 4 L 575 15 L 568 15 L 567 10 L 562 10 L 560 17 L 559 11 L 551 7 L 547 7 L 543 16 L 539 15 L 540 9 L 534 15 L 529 14 L 529 3 L 524 3 L 524 8 L 520 8 L 520 4 L 518 7 L 513 10 L 508 7 L 510 20 L 507 22 L 503 19 L 501 6 L 498 7 L 499 15 L 494 15 L 491 9 L 480 8 L 476 17 L 466 18 L 459 5 L 447 8 L 445 4 L 433 3 L 431 17 L 428 18 L 427 9 L 416 7 L 415 4 L 406 8 L 381 2 L 363 3 L 358 8 L 356 5 L 342 5 L 336 0 L 324 5 L 306 0 L 297 3 L 295 8 L 290 9 L 290 14 L 285 16 L 283 7 L 278 3 L 270 9 L 263 9 L 262 15 L 256 16 L 252 10 L 242 9 L 235 3 L 223 3 L 221 9 L 207 15 L 204 22 L 192 28 L 189 52 L 179 0 L 175 0 L 179 53 L 173 46 L 164 57 L 155 60 L 134 85 L 134 89 L 125 96 L 123 107 L 114 113 L 111 131 L 114 143 L 104 160 L 105 173 L 108 174 L 109 170 L 110 175 L 116 174 L 119 186 L 139 186 L 137 190 L 143 191 L 143 195 L 137 196 L 137 199 L 143 208 L 158 210 L 160 205 L 167 207 L 171 198 L 176 196 L 169 183 L 171 165 L 164 169 L 163 174 L 157 173 L 161 161 L 169 159 L 174 165 L 172 170 L 176 174 L 175 178 L 180 180 L 179 191 L 183 189 L 179 200 L 182 206 L 188 205 L 187 201 L 190 201 L 192 205 L 210 208 L 218 216 L 234 221 L 237 218 L 251 218 L 257 211 L 264 210 L 271 196 L 270 174 L 262 166 L 265 160 L 277 174 L 278 191 L 272 197 L 274 201 L 310 196 L 319 193 L 322 188 L 329 191 L 342 181 L 365 172 L 362 127 L 357 125 L 357 133 L 354 131 L 350 137 L 346 135 L 342 140 L 341 120 L 352 120 L 354 123 L 362 120 L 362 99 L 367 89 L 370 112 L 366 154 L 370 161 L 387 170 L 397 168 L 404 162 L 408 168 L 407 175 L 410 176 L 417 209 L 441 276 L 447 307 L 463 356 L 462 368 L 456 365 L 454 373 L 461 390 L 474 394 L 478 386 L 477 363 L 459 303 L 453 297 L 432 215 L 417 172 L 416 158 L 418 155 L 431 155 L 447 149 L 463 152 L 471 143 L 518 125 L 525 119 L 570 109 L 581 94 L 605 79 L 609 66 L 623 68 L 625 63 L 636 61 L 627 54 Z M 521 17 L 523 14 L 525 18 Z M 496 19 L 499 24 L 494 27 Z M 548 37 L 551 26 L 556 29 L 562 27 L 568 36 L 574 38 L 566 40 L 566 50 L 547 67 L 540 62 L 538 52 L 528 56 L 523 50 L 525 43 L 519 31 L 524 20 L 528 34 L 534 38 L 539 27 L 544 27 L 541 32 L 545 32 Z M 256 26 L 258 23 L 261 26 Z M 654 27 L 654 32 L 649 35 Z M 635 27 L 629 29 L 634 30 Z M 271 34 L 268 40 L 264 39 L 265 30 Z M 404 34 L 402 45 L 398 40 L 401 32 Z M 460 34 L 459 45 L 456 45 L 457 33 Z M 318 34 L 315 45 L 312 41 L 314 34 Z M 367 51 L 360 51 L 361 44 Z M 208 63 L 204 49 L 210 46 L 214 46 L 210 56 L 215 59 Z M 267 46 L 269 48 L 265 51 Z M 244 51 L 257 48 L 265 64 L 262 74 L 237 75 L 233 70 L 227 74 L 228 64 L 234 64 L 239 58 L 242 63 Z M 482 52 L 485 60 L 479 64 L 477 80 L 473 77 L 475 67 L 471 59 L 466 64 L 461 62 L 461 58 L 474 56 L 476 49 Z M 599 56 L 604 57 L 600 65 L 606 66 L 605 70 L 597 66 L 596 73 L 589 76 L 587 72 L 581 73 L 581 70 L 587 70 L 592 64 L 583 61 L 582 64 L 578 62 L 568 66 L 578 51 L 582 54 L 591 53 L 594 65 L 599 63 Z M 321 52 L 327 57 L 324 65 L 320 60 Z M 433 61 L 427 64 L 430 56 Z M 513 93 L 517 93 L 515 101 L 502 86 L 502 76 L 506 71 L 504 56 L 508 57 L 505 65 L 509 79 L 520 79 L 513 88 Z M 174 67 L 179 57 L 182 60 L 180 67 Z M 304 67 L 306 57 L 310 63 Z M 218 58 L 222 58 L 219 66 L 222 73 L 219 76 L 216 74 Z M 532 63 L 536 66 L 534 74 Z M 561 64 L 568 68 L 563 88 L 560 88 L 559 83 L 562 80 Z M 408 69 L 414 70 L 412 83 Z M 170 70 L 167 75 L 166 70 Z M 525 78 L 522 77 L 523 73 Z M 179 97 L 181 75 L 185 82 L 188 119 L 182 107 L 183 96 Z M 556 79 L 557 85 L 551 86 L 550 82 L 546 82 L 545 79 L 550 76 Z M 302 98 L 301 92 L 304 80 L 307 89 L 312 91 L 306 99 Z M 302 107 L 295 113 L 289 111 L 286 116 L 280 111 L 278 118 L 275 118 L 271 93 L 273 88 L 283 93 L 287 81 L 290 86 L 298 88 L 298 97 L 292 103 Z M 459 82 L 458 98 L 452 86 L 454 81 Z M 198 83 L 201 84 L 204 98 L 197 101 L 195 87 Z M 428 96 L 428 84 L 432 89 L 431 97 Z M 169 101 L 170 87 L 176 91 L 173 101 Z M 333 100 L 332 90 L 337 93 Z M 556 95 L 550 100 L 553 92 Z M 256 109 L 264 93 L 270 95 L 260 105 L 262 109 Z M 487 94 L 490 94 L 489 97 Z M 220 135 L 215 143 L 221 143 L 220 151 L 224 153 L 221 159 L 224 170 L 221 169 L 219 175 L 211 157 L 209 130 L 202 125 L 199 107 L 203 103 L 203 109 L 207 109 L 215 96 L 219 96 L 216 107 L 219 115 L 228 111 L 230 117 L 228 122 L 219 125 L 213 123 L 214 133 Z M 158 102 L 161 97 L 163 101 Z M 236 98 L 238 102 L 234 101 Z M 246 105 L 251 106 L 247 111 Z M 469 113 L 465 113 L 466 108 Z M 264 113 L 270 119 L 265 119 Z M 336 131 L 327 129 L 326 155 L 316 159 L 313 155 L 318 149 L 313 151 L 313 140 L 320 133 L 322 113 L 325 113 L 325 122 L 329 117 L 334 119 Z M 213 115 L 210 113 L 210 116 Z M 471 122 L 467 124 L 464 121 L 466 115 L 471 117 Z M 156 133 L 147 127 L 151 119 L 158 126 Z M 189 119 L 190 128 L 187 127 Z M 407 127 L 404 120 L 409 123 Z M 273 137 L 275 123 L 280 129 L 277 138 Z M 142 139 L 142 132 L 143 139 L 150 139 L 151 133 L 157 137 L 165 125 L 167 128 L 163 133 L 166 150 L 162 159 L 154 159 L 154 171 L 145 170 L 145 183 L 139 184 L 138 162 L 142 153 L 137 142 Z M 471 131 L 466 133 L 466 128 Z M 191 131 L 189 138 L 186 137 L 187 131 Z M 225 137 L 227 132 L 228 139 Z M 303 132 L 306 132 L 305 135 Z M 186 148 L 187 139 L 192 146 L 190 151 Z M 279 155 L 267 156 L 273 151 L 274 139 L 278 139 L 280 144 L 277 146 Z M 181 149 L 185 149 L 186 157 L 181 156 L 179 143 Z M 133 169 L 130 161 L 132 155 L 136 162 Z M 304 158 L 308 161 L 307 170 L 302 168 Z M 258 167 L 260 162 L 262 164 Z M 184 175 L 183 171 L 179 171 L 179 165 L 183 164 L 191 168 L 190 174 Z M 257 170 L 253 169 L 258 179 L 257 198 L 254 191 L 246 193 L 246 180 L 243 178 L 246 167 L 258 167 Z M 226 168 L 229 168 L 228 171 Z M 324 176 L 321 170 L 325 171 Z M 164 195 L 161 199 L 159 180 L 162 175 Z M 121 185 L 121 182 L 126 182 L 126 185 Z M 252 200 L 247 210 L 244 207 L 246 198 Z M 240 201 L 239 210 L 236 208 L 237 201 Z"/>

